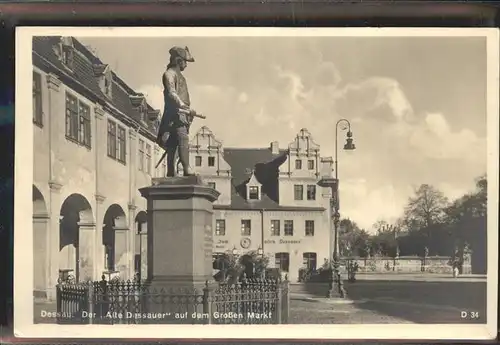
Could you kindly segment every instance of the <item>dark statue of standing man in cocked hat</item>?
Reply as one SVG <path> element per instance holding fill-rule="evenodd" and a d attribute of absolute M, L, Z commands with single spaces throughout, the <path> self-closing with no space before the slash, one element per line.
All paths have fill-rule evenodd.
<path fill-rule="evenodd" d="M 186 78 L 182 71 L 194 59 L 188 47 L 173 47 L 169 53 L 170 62 L 162 78 L 165 108 L 158 128 L 157 143 L 167 154 L 167 177 L 175 176 L 177 153 L 184 176 L 191 176 L 194 173 L 189 165 L 189 127 L 196 111 L 191 108 Z"/>

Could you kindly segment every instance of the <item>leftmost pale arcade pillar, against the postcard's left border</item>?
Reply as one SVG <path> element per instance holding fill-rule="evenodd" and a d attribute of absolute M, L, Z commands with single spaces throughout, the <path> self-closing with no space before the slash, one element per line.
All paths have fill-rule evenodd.
<path fill-rule="evenodd" d="M 48 214 L 33 215 L 33 273 L 36 297 L 47 297 L 50 282 L 50 242 Z"/>

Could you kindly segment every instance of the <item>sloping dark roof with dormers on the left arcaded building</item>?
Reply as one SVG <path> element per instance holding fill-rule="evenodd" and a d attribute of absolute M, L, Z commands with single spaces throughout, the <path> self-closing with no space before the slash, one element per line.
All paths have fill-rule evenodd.
<path fill-rule="evenodd" d="M 75 90 L 86 89 L 87 93 L 85 96 L 91 98 L 93 101 L 99 101 L 101 104 L 106 102 L 111 103 L 113 107 L 122 112 L 126 117 L 139 123 L 141 115 L 134 109 L 129 99 L 129 95 L 138 95 L 138 93 L 113 72 L 112 98 L 111 100 L 108 99 L 99 87 L 94 71 L 94 65 L 105 65 L 106 63 L 101 61 L 101 59 L 95 56 L 77 39 L 73 38 L 75 54 L 73 57 L 73 69 L 69 70 L 54 51 L 60 39 L 61 36 L 33 37 L 33 64 L 40 69 L 57 74 L 64 83 L 75 88 Z M 153 110 L 149 104 L 148 109 Z M 154 139 L 156 128 L 153 126 L 153 123 L 147 120 L 141 126 L 145 130 L 144 134 Z"/>

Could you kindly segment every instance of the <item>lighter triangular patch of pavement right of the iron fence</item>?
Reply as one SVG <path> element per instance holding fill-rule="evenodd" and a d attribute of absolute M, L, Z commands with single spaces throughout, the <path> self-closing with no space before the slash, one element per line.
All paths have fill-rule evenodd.
<path fill-rule="evenodd" d="M 412 322 L 360 309 L 356 304 L 329 304 L 292 298 L 290 324 L 412 324 Z"/>

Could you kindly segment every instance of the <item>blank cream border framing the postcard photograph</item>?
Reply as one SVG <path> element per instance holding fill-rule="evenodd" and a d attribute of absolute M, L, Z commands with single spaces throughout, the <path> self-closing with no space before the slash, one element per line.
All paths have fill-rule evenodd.
<path fill-rule="evenodd" d="M 33 323 L 33 36 L 474 36 L 486 37 L 488 274 L 487 324 L 429 325 L 52 325 Z M 16 29 L 14 334 L 29 338 L 492 339 L 497 333 L 499 31 L 489 28 L 77 28 Z M 31 283 L 27 283 L 31 282 Z"/>

